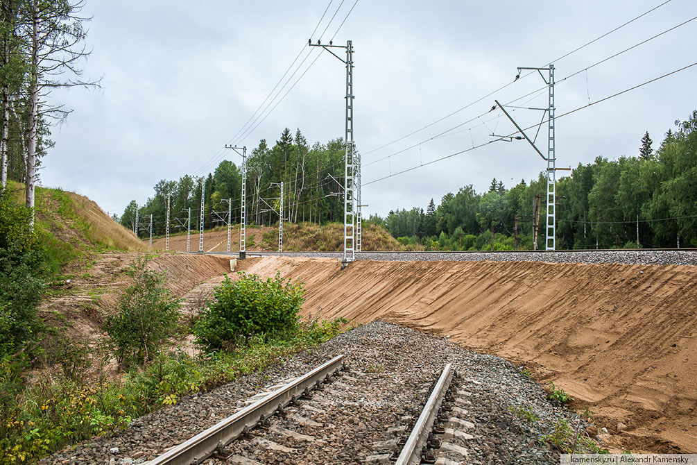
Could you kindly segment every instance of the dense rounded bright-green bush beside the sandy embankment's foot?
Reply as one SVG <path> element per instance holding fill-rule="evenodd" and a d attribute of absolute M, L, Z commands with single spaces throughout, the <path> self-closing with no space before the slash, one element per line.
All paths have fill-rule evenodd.
<path fill-rule="evenodd" d="M 214 299 L 194 326 L 194 335 L 209 351 L 229 349 L 250 335 L 293 333 L 304 298 L 302 284 L 238 273 L 240 279 L 225 280 L 215 288 Z"/>

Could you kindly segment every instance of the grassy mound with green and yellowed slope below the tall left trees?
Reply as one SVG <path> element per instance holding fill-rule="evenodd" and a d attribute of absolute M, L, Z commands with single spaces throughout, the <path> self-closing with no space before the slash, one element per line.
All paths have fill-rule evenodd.
<path fill-rule="evenodd" d="M 24 185 L 8 184 L 24 204 Z M 84 252 L 145 250 L 135 234 L 109 217 L 87 197 L 56 188 L 36 188 L 36 232 L 54 272 Z"/>

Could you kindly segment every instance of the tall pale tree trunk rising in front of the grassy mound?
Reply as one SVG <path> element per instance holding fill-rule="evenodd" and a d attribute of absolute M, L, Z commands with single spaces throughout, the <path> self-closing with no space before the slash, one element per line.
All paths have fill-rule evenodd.
<path fill-rule="evenodd" d="M 36 120 L 38 114 L 38 22 L 39 13 L 33 5 L 31 24 L 31 77 L 29 81 L 29 147 L 26 150 L 26 208 L 31 208 L 30 226 L 34 224 L 34 182 L 36 181 Z"/>

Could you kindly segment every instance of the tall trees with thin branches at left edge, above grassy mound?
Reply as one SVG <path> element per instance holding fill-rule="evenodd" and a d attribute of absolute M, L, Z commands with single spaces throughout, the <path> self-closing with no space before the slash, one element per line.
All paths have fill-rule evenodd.
<path fill-rule="evenodd" d="M 83 7 L 84 0 L 0 0 L 0 178 L 3 189 L 8 180 L 24 183 L 28 208 L 40 161 L 54 144 L 50 127 L 71 111 L 51 91 L 98 85 L 78 67 L 89 55 Z"/>

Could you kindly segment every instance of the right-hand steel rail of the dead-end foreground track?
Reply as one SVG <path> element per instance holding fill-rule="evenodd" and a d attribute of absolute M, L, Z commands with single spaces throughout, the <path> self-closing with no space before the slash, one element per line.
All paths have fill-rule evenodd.
<path fill-rule="evenodd" d="M 414 465 L 421 462 L 421 450 L 428 441 L 429 433 L 433 429 L 434 421 L 438 416 L 438 410 L 441 409 L 445 392 L 450 386 L 450 381 L 452 381 L 451 367 L 452 363 L 448 363 L 443 368 L 443 373 L 438 379 L 433 392 L 431 392 L 431 396 L 427 400 L 419 419 L 416 420 L 414 429 L 409 434 L 409 438 L 399 453 L 395 465 Z"/>

